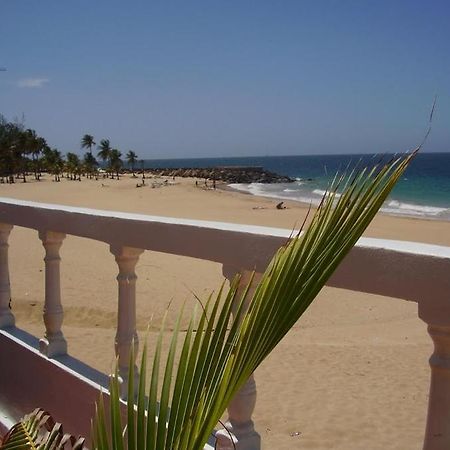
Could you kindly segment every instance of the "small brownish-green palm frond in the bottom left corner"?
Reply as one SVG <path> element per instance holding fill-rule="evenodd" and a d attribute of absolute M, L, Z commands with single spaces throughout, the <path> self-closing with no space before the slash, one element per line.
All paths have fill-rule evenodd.
<path fill-rule="evenodd" d="M 64 434 L 62 425 L 42 409 L 35 409 L 7 433 L 0 450 L 83 450 L 84 439 Z"/>

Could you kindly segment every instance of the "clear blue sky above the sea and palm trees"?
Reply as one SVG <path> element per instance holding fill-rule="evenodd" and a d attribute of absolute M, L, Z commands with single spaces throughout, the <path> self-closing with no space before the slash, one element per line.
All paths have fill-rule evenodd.
<path fill-rule="evenodd" d="M 0 0 L 0 113 L 140 158 L 450 151 L 448 0 Z"/>

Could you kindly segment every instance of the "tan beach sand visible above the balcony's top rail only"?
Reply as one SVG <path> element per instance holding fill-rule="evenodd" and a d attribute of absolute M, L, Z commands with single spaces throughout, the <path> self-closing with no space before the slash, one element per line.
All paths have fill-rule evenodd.
<path fill-rule="evenodd" d="M 83 179 L 77 182 L 62 179 L 60 183 L 54 183 L 46 176 L 40 182 L 30 180 L 28 183 L 0 185 L 0 196 L 287 229 L 301 223 L 309 209 L 308 204 L 285 200 L 286 209 L 277 210 L 279 199 L 248 195 L 220 183 L 217 183 L 215 190 L 205 189 L 200 182 L 196 187 L 194 178 L 176 178 L 175 182 L 172 178 L 146 178 L 146 186 L 137 189 L 136 184 L 140 182 L 140 177 L 124 175 L 119 181 Z M 151 187 L 152 183 L 155 188 Z M 364 236 L 450 246 L 450 221 L 380 212 Z"/>

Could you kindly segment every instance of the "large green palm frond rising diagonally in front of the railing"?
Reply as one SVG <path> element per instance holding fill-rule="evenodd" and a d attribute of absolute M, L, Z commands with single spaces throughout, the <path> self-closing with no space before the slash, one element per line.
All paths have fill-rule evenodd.
<path fill-rule="evenodd" d="M 119 383 L 113 377 L 111 411 L 106 414 L 100 402 L 93 448 L 202 449 L 233 396 L 305 312 L 414 156 L 415 152 L 401 155 L 386 164 L 380 161 L 372 168 L 337 176 L 309 227 L 279 249 L 254 293 L 250 294 L 249 285 L 241 293 L 237 277 L 228 292 L 221 289 L 211 296 L 200 312 L 194 311 L 177 352 L 180 314 L 165 367 L 161 359 L 163 328 L 148 391 L 144 348 L 137 407 L 128 402 L 126 433 Z M 133 378 L 130 364 L 129 380 Z M 131 385 L 128 398 L 133 398 L 133 392 Z"/>

